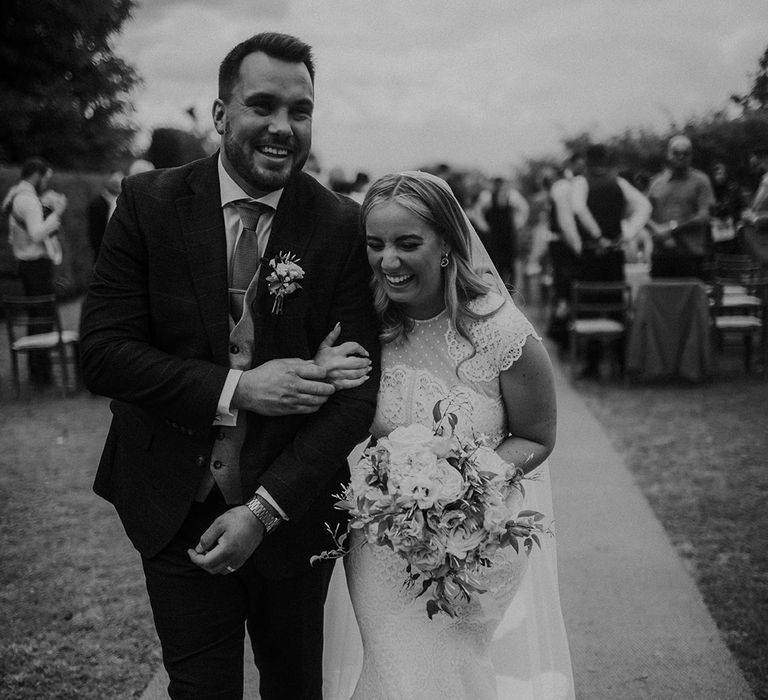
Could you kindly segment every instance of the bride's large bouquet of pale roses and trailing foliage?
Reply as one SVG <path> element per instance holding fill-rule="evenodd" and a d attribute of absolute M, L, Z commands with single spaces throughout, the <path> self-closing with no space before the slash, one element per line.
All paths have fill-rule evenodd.
<path fill-rule="evenodd" d="M 530 553 L 546 532 L 541 513 L 508 505 L 513 490 L 524 494 L 522 470 L 482 439 L 460 440 L 450 406 L 443 411 L 438 402 L 433 417 L 432 430 L 396 428 L 366 448 L 336 504 L 349 512 L 348 528 L 406 560 L 404 583 L 419 583 L 419 595 L 430 590 L 430 619 L 439 611 L 454 617 L 457 604 L 485 592 L 481 574 L 499 548 Z M 347 553 L 348 534 L 332 534 L 337 549 L 313 560 Z"/>

